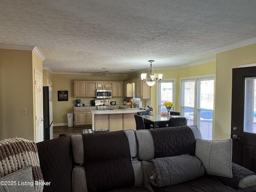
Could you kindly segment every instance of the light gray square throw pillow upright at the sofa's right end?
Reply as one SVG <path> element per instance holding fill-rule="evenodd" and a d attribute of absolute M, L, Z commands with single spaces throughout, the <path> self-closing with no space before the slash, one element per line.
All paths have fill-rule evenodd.
<path fill-rule="evenodd" d="M 214 141 L 197 139 L 195 155 L 201 160 L 207 174 L 233 177 L 232 139 Z"/>

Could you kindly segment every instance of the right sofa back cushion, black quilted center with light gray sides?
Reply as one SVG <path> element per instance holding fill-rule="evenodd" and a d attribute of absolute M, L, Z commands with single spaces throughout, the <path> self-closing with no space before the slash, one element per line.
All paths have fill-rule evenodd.
<path fill-rule="evenodd" d="M 186 153 L 194 155 L 196 148 L 195 135 L 201 138 L 201 134 L 196 126 L 191 127 L 181 126 L 136 130 L 138 159 L 151 160 Z"/>

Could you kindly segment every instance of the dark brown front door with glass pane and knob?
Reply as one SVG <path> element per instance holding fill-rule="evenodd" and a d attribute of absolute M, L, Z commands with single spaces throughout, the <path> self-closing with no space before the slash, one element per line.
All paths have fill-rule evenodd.
<path fill-rule="evenodd" d="M 232 161 L 256 172 L 256 67 L 233 69 L 231 138 Z"/>

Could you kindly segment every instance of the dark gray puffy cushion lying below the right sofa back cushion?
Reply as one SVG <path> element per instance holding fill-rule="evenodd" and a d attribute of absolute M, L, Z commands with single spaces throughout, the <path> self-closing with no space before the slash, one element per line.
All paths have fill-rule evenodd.
<path fill-rule="evenodd" d="M 149 171 L 154 186 L 165 187 L 204 175 L 204 167 L 195 156 L 180 155 L 152 159 L 154 169 Z"/>

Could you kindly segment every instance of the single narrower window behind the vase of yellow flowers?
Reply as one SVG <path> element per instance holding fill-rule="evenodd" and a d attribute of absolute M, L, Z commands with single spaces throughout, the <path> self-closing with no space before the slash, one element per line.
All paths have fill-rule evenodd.
<path fill-rule="evenodd" d="M 175 104 L 175 86 L 174 80 L 161 80 L 158 86 L 158 114 L 166 113 L 167 109 L 164 102 L 173 102 Z M 175 107 L 175 106 L 174 106 Z M 172 108 L 173 110 L 173 108 Z"/>

